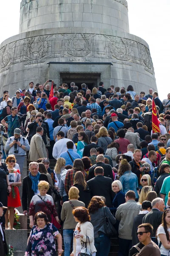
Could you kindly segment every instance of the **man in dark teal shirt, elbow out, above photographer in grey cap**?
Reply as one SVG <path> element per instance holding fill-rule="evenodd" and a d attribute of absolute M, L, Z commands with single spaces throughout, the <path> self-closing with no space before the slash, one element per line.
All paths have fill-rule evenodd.
<path fill-rule="evenodd" d="M 3 124 L 8 129 L 8 136 L 14 136 L 14 130 L 15 128 L 20 128 L 20 121 L 18 118 L 18 111 L 17 107 L 11 108 L 11 115 L 6 116 L 2 121 L 1 124 Z"/>

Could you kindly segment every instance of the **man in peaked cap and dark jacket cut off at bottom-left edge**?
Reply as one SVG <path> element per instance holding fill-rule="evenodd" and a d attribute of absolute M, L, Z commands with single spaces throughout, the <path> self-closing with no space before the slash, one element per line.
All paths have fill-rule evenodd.
<path fill-rule="evenodd" d="M 0 202 L 0 217 L 3 216 L 3 210 L 7 209 L 7 207 L 3 206 Z M 3 231 L 3 226 L 0 222 L 0 255 L 6 256 L 8 254 L 8 246 L 6 243 L 5 232 Z"/>

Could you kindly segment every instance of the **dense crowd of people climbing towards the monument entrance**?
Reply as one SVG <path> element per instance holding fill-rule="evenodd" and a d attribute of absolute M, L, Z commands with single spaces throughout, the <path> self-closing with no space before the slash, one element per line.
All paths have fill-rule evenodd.
<path fill-rule="evenodd" d="M 2 256 L 3 229 L 14 230 L 21 202 L 31 228 L 25 256 L 56 256 L 55 239 L 62 255 L 62 237 L 65 256 L 108 256 L 112 236 L 119 256 L 168 256 L 170 93 L 161 102 L 153 89 L 138 94 L 131 85 L 49 82 L 0 99 Z"/>

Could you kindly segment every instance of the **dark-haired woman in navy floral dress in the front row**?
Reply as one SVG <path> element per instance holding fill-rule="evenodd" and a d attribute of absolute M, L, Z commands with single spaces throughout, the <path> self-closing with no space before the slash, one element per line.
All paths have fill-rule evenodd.
<path fill-rule="evenodd" d="M 55 238 L 57 238 L 58 255 L 62 255 L 62 236 L 57 228 L 48 222 L 44 212 L 37 212 L 28 237 L 25 256 L 56 256 Z"/>

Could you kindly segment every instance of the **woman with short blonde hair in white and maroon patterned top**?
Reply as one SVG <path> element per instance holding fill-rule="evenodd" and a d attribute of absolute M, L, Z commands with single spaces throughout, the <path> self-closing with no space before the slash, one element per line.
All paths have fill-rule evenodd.
<path fill-rule="evenodd" d="M 57 224 L 57 222 L 59 222 L 59 218 L 57 216 L 56 207 L 55 207 L 52 196 L 47 194 L 48 189 L 49 189 L 49 183 L 47 181 L 41 180 L 38 183 L 39 193 L 32 197 L 29 205 L 29 219 L 30 219 L 29 226 L 31 228 L 34 225 L 34 221 L 33 221 L 34 215 L 37 212 L 40 212 L 42 210 L 48 216 L 48 220 L 51 223 L 53 223 L 55 227 L 59 227 L 59 224 Z"/>

